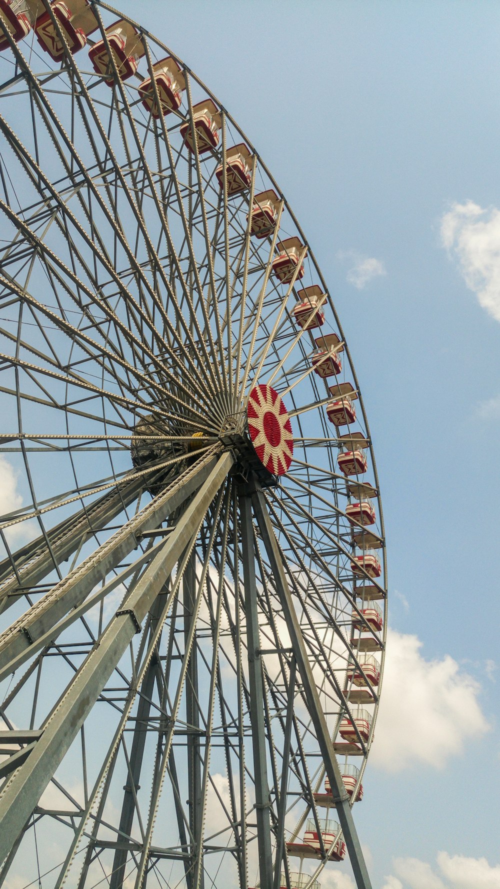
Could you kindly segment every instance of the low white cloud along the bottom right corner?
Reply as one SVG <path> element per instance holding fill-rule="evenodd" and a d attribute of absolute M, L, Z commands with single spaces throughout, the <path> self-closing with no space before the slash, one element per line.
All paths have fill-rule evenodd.
<path fill-rule="evenodd" d="M 400 879 L 385 877 L 383 889 L 500 889 L 500 865 L 490 865 L 486 858 L 440 852 L 437 862 L 446 882 L 427 861 L 395 858 L 392 866 Z"/>

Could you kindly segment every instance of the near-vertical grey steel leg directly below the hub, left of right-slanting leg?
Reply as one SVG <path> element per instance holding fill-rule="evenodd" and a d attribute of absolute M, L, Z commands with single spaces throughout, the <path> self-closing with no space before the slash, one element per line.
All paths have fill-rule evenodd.
<path fill-rule="evenodd" d="M 254 527 L 249 497 L 240 495 L 241 544 L 243 553 L 243 581 L 245 584 L 246 644 L 248 648 L 248 676 L 250 684 L 250 722 L 254 749 L 255 810 L 259 873 L 261 889 L 272 889 L 272 853 L 270 843 L 270 793 L 267 776 L 266 739 L 264 725 L 264 685 L 262 661 L 259 653 L 259 621 L 257 614 L 257 584 L 255 581 Z"/>

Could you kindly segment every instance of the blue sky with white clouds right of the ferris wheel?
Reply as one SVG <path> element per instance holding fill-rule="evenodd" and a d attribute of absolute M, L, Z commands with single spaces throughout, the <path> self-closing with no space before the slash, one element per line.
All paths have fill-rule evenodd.
<path fill-rule="evenodd" d="M 375 889 L 496 889 L 500 6 L 121 8 L 247 132 L 350 342 L 397 634 L 356 811 Z"/>

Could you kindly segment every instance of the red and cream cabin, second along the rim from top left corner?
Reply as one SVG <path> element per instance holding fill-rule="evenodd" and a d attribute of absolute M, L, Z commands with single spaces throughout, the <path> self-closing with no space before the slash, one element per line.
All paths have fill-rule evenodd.
<path fill-rule="evenodd" d="M 99 27 L 88 0 L 69 0 L 69 3 L 54 0 L 51 9 L 69 45 L 69 52 L 74 55 L 78 50 L 83 50 L 87 37 Z M 51 59 L 60 61 L 64 58 L 66 47 L 63 46 L 48 12 L 36 19 L 35 33 L 36 40 Z"/>

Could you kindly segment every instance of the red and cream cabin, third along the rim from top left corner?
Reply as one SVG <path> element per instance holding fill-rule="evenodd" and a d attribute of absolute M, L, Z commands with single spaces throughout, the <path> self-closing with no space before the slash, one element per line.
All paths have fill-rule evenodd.
<path fill-rule="evenodd" d="M 120 80 L 127 80 L 137 71 L 139 60 L 144 55 L 141 37 L 130 22 L 119 19 L 106 28 L 109 49 L 104 40 L 93 44 L 89 59 L 97 74 L 104 77 L 108 86 L 115 83 L 113 62 Z"/>

